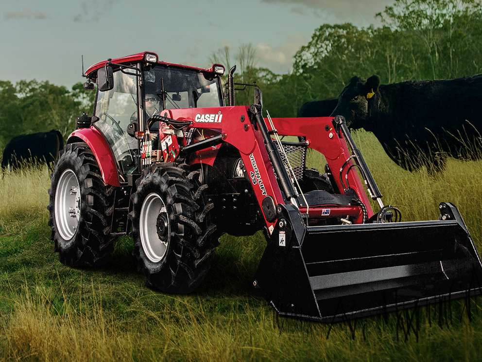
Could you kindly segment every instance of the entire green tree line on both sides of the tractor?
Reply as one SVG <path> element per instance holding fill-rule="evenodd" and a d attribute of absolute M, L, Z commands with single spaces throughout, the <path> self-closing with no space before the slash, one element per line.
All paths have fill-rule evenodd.
<path fill-rule="evenodd" d="M 258 67 L 256 49 L 224 47 L 211 61 L 237 64 L 235 81 L 256 83 L 272 116 L 294 117 L 304 102 L 336 97 L 354 75 L 378 74 L 382 83 L 482 73 L 482 4 L 479 0 L 396 0 L 375 15 L 380 26 L 322 24 L 294 55 L 287 74 Z M 233 54 L 234 53 L 234 54 Z M 242 88 L 242 87 L 241 87 Z M 48 81 L 0 81 L 0 145 L 21 133 L 52 128 L 68 135 L 75 117 L 91 112 L 95 92 Z M 254 89 L 236 93 L 253 102 Z"/>

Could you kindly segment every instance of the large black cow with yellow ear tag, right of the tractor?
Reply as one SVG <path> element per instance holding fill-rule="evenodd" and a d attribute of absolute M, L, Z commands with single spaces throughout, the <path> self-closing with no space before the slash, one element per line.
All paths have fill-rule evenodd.
<path fill-rule="evenodd" d="M 377 75 L 366 82 L 353 77 L 330 116 L 373 132 L 388 156 L 409 171 L 426 165 L 433 175 L 448 156 L 481 158 L 482 75 L 379 83 Z"/>

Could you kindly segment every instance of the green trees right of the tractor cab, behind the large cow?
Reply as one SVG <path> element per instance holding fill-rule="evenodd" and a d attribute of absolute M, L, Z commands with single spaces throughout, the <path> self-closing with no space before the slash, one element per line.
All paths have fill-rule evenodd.
<path fill-rule="evenodd" d="M 354 75 L 394 83 L 482 72 L 479 1 L 396 0 L 377 16 L 380 27 L 321 25 L 295 54 L 290 74 L 267 79 L 249 69 L 241 77 L 261 87 L 272 115 L 290 117 L 304 102 L 338 96 Z M 238 94 L 236 103 L 252 103 L 251 94 Z"/>

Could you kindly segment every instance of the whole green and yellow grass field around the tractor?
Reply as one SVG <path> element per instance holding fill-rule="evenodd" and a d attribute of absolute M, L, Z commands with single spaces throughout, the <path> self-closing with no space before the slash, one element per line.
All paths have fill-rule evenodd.
<path fill-rule="evenodd" d="M 395 165 L 355 134 L 386 203 L 404 220 L 459 208 L 482 251 L 482 161 L 450 160 L 435 179 Z M 310 155 L 310 166 L 317 157 Z M 321 169 L 321 166 L 318 166 Z M 144 287 L 121 238 L 99 270 L 59 263 L 47 226 L 47 169 L 0 180 L 0 360 L 481 360 L 482 300 L 334 326 L 277 318 L 252 288 L 265 240 L 224 235 L 201 288 L 188 296 Z M 410 323 L 410 318 L 415 318 Z M 415 323 L 416 322 L 416 323 Z"/>

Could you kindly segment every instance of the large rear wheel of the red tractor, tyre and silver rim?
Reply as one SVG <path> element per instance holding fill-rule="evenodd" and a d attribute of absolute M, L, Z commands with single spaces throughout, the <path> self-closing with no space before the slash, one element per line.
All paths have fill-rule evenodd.
<path fill-rule="evenodd" d="M 114 249 L 109 217 L 114 186 L 103 183 L 99 166 L 84 143 L 66 145 L 49 190 L 49 225 L 60 261 L 74 267 L 105 264 Z"/>

